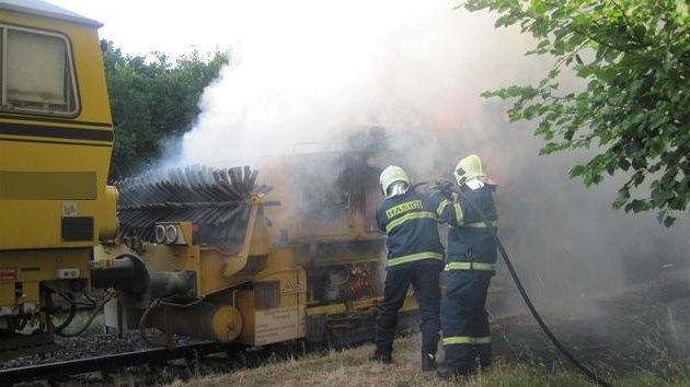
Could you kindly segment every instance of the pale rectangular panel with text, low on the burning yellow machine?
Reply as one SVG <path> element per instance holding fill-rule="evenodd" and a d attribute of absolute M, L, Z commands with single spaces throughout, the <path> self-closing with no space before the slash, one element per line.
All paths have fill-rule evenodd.
<path fill-rule="evenodd" d="M 304 306 L 257 310 L 255 345 L 292 340 L 306 335 Z"/>

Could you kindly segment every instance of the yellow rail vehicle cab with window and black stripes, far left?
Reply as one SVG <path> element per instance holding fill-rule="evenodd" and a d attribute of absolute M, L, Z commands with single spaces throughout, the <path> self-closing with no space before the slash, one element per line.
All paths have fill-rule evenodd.
<path fill-rule="evenodd" d="M 0 317 L 8 330 L 38 320 L 50 292 L 88 289 L 93 247 L 116 234 L 100 26 L 48 2 L 0 0 Z"/>

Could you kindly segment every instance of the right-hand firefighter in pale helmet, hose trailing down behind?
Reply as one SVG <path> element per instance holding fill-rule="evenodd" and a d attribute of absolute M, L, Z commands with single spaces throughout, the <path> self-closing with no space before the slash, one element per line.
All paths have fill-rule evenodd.
<path fill-rule="evenodd" d="M 448 223 L 446 286 L 440 306 L 445 362 L 440 378 L 467 375 L 492 363 L 486 293 L 496 269 L 496 185 L 486 177 L 479 156 L 471 154 L 449 181 L 433 194 L 444 198 L 437 215 Z"/>

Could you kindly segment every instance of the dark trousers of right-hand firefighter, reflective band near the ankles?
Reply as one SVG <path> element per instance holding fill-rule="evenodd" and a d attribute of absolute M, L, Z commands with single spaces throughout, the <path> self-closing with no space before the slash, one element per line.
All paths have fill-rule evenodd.
<path fill-rule="evenodd" d="M 486 294 L 492 271 L 446 271 L 440 306 L 444 366 L 460 373 L 487 367 L 492 362 Z"/>

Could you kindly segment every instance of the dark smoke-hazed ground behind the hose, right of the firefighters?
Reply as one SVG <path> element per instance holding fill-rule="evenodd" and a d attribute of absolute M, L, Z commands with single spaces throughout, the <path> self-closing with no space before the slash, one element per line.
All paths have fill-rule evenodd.
<path fill-rule="evenodd" d="M 664 375 L 690 360 L 690 278 L 685 274 L 599 295 L 586 303 L 564 302 L 557 309 L 539 313 L 571 355 L 595 372 Z M 521 314 L 492 317 L 496 355 L 574 370 L 527 307 Z"/>

